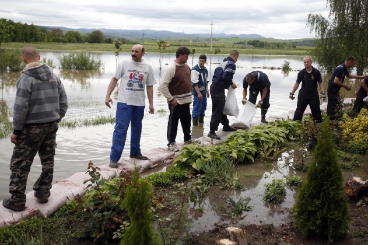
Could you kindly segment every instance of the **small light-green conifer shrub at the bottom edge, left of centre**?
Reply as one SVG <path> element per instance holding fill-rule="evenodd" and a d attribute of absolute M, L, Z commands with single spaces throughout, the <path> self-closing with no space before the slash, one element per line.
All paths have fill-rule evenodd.
<path fill-rule="evenodd" d="M 137 169 L 131 183 L 127 185 L 123 208 L 128 211 L 131 225 L 125 230 L 121 245 L 162 245 L 154 231 L 151 211 L 152 187 L 140 178 Z"/>

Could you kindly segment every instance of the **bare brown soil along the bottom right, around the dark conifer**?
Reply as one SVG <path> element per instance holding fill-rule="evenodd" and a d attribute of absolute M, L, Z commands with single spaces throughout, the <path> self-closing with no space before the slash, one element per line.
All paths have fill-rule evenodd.
<path fill-rule="evenodd" d="M 284 224 L 271 227 L 270 225 L 240 225 L 248 245 L 368 245 L 368 207 L 357 207 L 349 202 L 352 221 L 349 225 L 348 235 L 339 241 L 328 243 L 327 240 L 316 238 L 304 239 L 294 226 L 291 215 Z M 216 240 L 227 238 L 226 227 L 236 225 L 222 224 L 208 232 L 192 234 L 194 240 L 191 245 L 215 245 Z M 286 241 L 285 241 L 286 239 Z"/>

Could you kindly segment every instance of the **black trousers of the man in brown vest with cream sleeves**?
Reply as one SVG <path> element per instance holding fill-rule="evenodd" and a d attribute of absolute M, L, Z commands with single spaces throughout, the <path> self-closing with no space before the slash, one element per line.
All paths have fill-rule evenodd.
<path fill-rule="evenodd" d="M 183 105 L 178 104 L 177 106 L 173 106 L 169 103 L 170 116 L 169 122 L 167 123 L 167 140 L 169 144 L 167 145 L 175 143 L 179 119 L 184 133 L 184 141 L 188 141 L 192 137 L 190 135 L 192 116 L 190 115 L 189 105 L 189 103 L 186 103 Z"/>

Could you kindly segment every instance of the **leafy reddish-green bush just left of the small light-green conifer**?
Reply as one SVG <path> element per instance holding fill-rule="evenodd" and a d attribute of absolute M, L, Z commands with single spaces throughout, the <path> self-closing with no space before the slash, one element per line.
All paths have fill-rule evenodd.
<path fill-rule="evenodd" d="M 126 226 L 127 212 L 122 208 L 125 189 L 131 182 L 128 174 L 104 181 L 98 167 L 93 163 L 88 165 L 92 187 L 84 196 L 76 197 L 76 212 L 79 220 L 84 224 L 85 230 L 80 237 L 90 237 L 98 244 L 112 243 L 114 232 L 120 226 Z M 116 238 L 116 236 L 115 236 Z"/>

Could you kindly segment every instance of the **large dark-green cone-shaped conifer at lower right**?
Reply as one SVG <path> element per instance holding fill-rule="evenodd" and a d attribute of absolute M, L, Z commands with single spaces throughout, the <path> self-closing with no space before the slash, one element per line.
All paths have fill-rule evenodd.
<path fill-rule="evenodd" d="M 330 121 L 325 119 L 314 160 L 295 203 L 295 224 L 301 233 L 328 238 L 329 242 L 346 235 L 351 220 L 332 131 Z"/>

